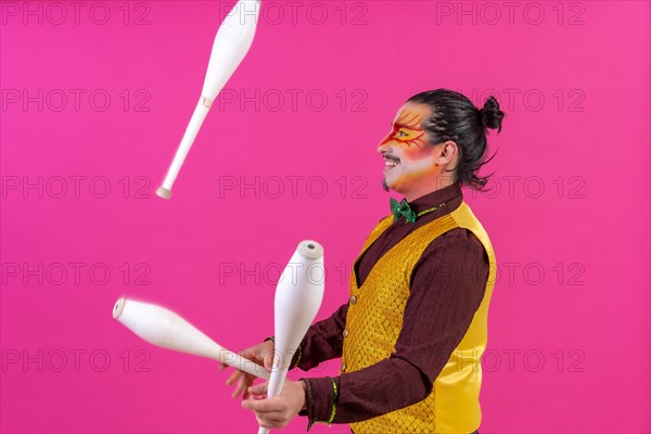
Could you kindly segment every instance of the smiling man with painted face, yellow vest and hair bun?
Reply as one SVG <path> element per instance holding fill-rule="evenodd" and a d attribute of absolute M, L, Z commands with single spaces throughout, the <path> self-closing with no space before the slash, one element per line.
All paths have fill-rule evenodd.
<path fill-rule="evenodd" d="M 362 433 L 472 433 L 486 348 L 496 263 L 488 235 L 463 202 L 461 186 L 481 190 L 487 128 L 503 113 L 490 97 L 477 110 L 464 95 L 438 89 L 410 98 L 378 152 L 384 188 L 405 196 L 367 239 L 350 277 L 350 297 L 314 324 L 292 367 L 309 370 L 342 358 L 336 378 L 285 381 L 261 399 L 267 383 L 235 371 L 242 406 L 265 427 L 296 414 L 349 423 Z M 270 367 L 273 341 L 242 354 Z M 254 396 L 255 399 L 247 399 Z"/>

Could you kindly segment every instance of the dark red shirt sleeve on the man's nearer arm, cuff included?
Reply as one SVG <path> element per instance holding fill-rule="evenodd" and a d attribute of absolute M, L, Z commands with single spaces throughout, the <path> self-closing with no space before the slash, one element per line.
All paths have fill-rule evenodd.
<path fill-rule="evenodd" d="M 309 379 L 309 426 L 315 421 L 352 423 L 426 398 L 480 307 L 488 258 L 467 229 L 436 238 L 417 263 L 395 353 L 387 359 L 334 379 Z"/>

